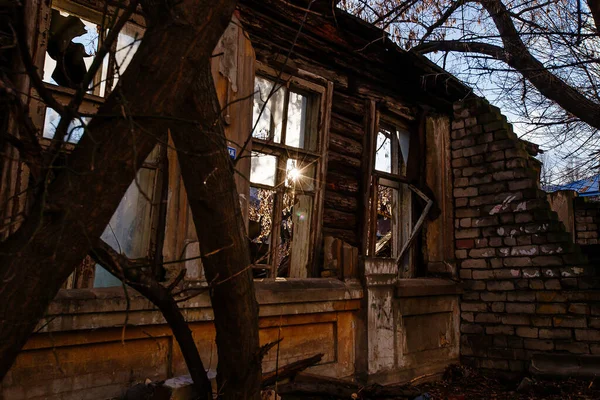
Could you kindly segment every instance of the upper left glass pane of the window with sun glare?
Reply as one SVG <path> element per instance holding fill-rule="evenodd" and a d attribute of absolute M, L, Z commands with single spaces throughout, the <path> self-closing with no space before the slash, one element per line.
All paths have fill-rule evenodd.
<path fill-rule="evenodd" d="M 254 80 L 254 107 L 252 109 L 252 136 L 281 143 L 285 89 L 280 85 L 273 90 L 273 82 L 256 77 Z M 271 95 L 271 98 L 269 98 Z"/>

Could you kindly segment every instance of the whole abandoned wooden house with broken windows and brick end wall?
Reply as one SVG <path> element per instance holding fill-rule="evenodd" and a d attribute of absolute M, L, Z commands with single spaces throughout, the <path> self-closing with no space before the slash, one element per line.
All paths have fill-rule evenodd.
<path fill-rule="evenodd" d="M 324 353 L 310 373 L 391 384 L 439 376 L 451 363 L 523 372 L 536 357 L 600 354 L 594 271 L 539 189 L 535 149 L 425 57 L 339 9 L 307 4 L 241 0 L 212 59 L 261 341 L 283 338 L 263 370 Z M 27 9 L 33 59 L 61 102 L 98 49 L 103 7 L 52 0 Z M 85 96 L 87 115 L 143 34 L 134 15 Z M 58 116 L 32 91 L 24 88 L 48 145 Z M 83 132 L 73 123 L 68 141 Z M 27 170 L 8 151 L 0 204 L 13 221 Z M 206 286 L 186 201 L 177 154 L 159 145 L 103 239 L 131 258 L 161 257 L 166 283 L 185 269 L 182 287 Z M 208 294 L 180 307 L 215 369 Z M 105 399 L 186 373 L 160 313 L 141 296 L 127 300 L 120 281 L 86 259 L 0 392 Z"/>

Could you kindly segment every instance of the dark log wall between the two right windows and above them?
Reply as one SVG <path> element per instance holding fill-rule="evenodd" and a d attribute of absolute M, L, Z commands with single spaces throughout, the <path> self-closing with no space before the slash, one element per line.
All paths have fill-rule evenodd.
<path fill-rule="evenodd" d="M 356 51 L 364 46 L 368 35 L 373 35 L 372 29 L 336 31 L 331 21 L 311 13 L 299 26 L 302 10 L 284 10 L 282 4 L 241 2 L 239 18 L 258 61 L 316 84 L 333 84 L 323 160 L 327 169 L 322 236 L 333 236 L 361 248 L 368 201 L 363 194 L 368 191 L 364 171 L 371 152 L 367 137 L 373 119 L 370 104 L 409 120 L 415 119 L 415 107 L 401 92 L 391 90 L 386 74 L 379 73 L 381 59 L 372 60 Z M 286 18 L 279 13 L 285 13 Z"/>

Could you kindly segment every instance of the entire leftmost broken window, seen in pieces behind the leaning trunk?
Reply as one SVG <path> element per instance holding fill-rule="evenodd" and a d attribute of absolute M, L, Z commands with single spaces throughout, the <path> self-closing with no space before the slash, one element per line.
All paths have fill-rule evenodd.
<path fill-rule="evenodd" d="M 52 2 L 46 26 L 47 42 L 43 59 L 43 81 L 63 105 L 67 105 L 88 73 L 102 41 L 109 33 L 114 15 L 103 15 L 69 0 Z M 79 111 L 94 114 L 129 66 L 141 42 L 143 28 L 129 21 L 119 32 L 107 56 L 102 60 L 87 88 Z M 40 121 L 42 145 L 53 140 L 60 115 L 46 107 Z M 86 132 L 90 117 L 69 123 L 64 140 L 77 143 Z M 66 150 L 69 151 L 68 149 Z M 158 224 L 158 204 L 164 196 L 162 166 L 166 149 L 157 146 L 127 189 L 101 238 L 129 258 L 154 259 Z M 164 156 L 164 157 L 163 157 Z M 97 265 L 90 257 L 82 262 L 65 284 L 67 288 L 120 286 L 121 282 Z"/>

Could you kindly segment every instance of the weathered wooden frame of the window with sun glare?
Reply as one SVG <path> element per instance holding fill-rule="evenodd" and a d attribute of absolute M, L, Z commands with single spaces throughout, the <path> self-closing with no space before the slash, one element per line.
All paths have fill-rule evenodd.
<path fill-rule="evenodd" d="M 312 212 L 310 221 L 310 234 L 308 240 L 308 261 L 306 268 L 304 266 L 292 265 L 290 259 L 289 278 L 307 278 L 311 275 L 315 275 L 317 270 L 314 266 L 315 260 L 318 260 L 318 252 L 320 246 L 317 242 L 320 240 L 321 224 L 322 224 L 322 208 L 323 208 L 323 183 L 324 183 L 324 153 L 326 149 L 326 141 L 328 140 L 326 135 L 326 116 L 327 111 L 327 99 L 330 97 L 330 90 L 328 87 L 315 84 L 308 80 L 289 75 L 287 73 L 277 71 L 269 66 L 266 66 L 260 62 L 256 63 L 256 77 L 267 79 L 274 83 L 279 83 L 288 89 L 286 100 L 284 105 L 287 104 L 287 98 L 289 97 L 289 90 L 294 90 L 300 94 L 314 96 L 313 109 L 311 110 L 311 124 L 314 124 L 313 129 L 315 130 L 315 148 L 314 150 L 304 150 L 301 148 L 290 147 L 285 145 L 285 131 L 287 121 L 285 114 L 282 117 L 282 134 L 280 143 L 275 143 L 270 140 L 264 140 L 260 138 L 252 137 L 251 139 L 251 150 L 252 152 L 259 152 L 268 155 L 277 156 L 277 172 L 275 178 L 274 187 L 268 185 L 261 185 L 250 182 L 249 186 L 256 187 L 259 189 L 274 190 L 275 199 L 273 205 L 273 221 L 271 225 L 271 243 L 269 244 L 269 253 L 271 254 L 271 261 L 269 264 L 257 264 L 253 267 L 259 270 L 267 271 L 268 279 L 277 278 L 277 274 L 274 273 L 278 266 L 276 257 L 276 249 L 280 245 L 280 227 L 281 227 L 281 205 L 283 204 L 283 194 L 288 189 L 283 184 L 285 181 L 286 163 L 288 159 L 296 159 L 300 162 L 300 165 L 313 164 L 314 165 L 314 186 L 311 191 L 302 191 L 303 193 L 310 194 L 312 196 Z M 279 78 L 279 79 L 277 79 Z M 285 107 L 284 107 L 285 108 Z M 316 114 L 316 115 L 315 115 Z M 249 178 L 249 175 L 248 175 Z M 249 196 L 249 193 L 248 193 Z M 291 258 L 291 257 L 290 257 Z"/>

